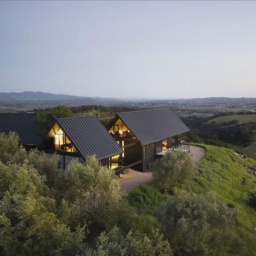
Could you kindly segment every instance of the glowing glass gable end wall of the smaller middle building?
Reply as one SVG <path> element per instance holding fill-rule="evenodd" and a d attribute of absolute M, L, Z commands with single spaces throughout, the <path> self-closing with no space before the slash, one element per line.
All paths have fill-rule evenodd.
<path fill-rule="evenodd" d="M 72 145 L 69 138 L 66 137 L 65 133 L 60 128 L 53 137 L 53 143 L 55 145 L 55 150 L 57 151 L 65 151 L 71 153 L 77 152 L 76 148 Z"/>

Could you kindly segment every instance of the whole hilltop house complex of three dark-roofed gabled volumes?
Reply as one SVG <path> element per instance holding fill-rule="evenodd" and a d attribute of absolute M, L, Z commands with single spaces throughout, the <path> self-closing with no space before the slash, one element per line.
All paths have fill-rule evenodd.
<path fill-rule="evenodd" d="M 178 147 L 189 129 L 171 109 L 152 109 L 117 113 L 107 129 L 95 116 L 57 118 L 45 136 L 35 114 L 0 114 L 0 132 L 10 131 L 26 149 L 63 155 L 64 166 L 64 156 L 84 161 L 94 155 L 111 169 L 146 172 L 158 156 Z"/>

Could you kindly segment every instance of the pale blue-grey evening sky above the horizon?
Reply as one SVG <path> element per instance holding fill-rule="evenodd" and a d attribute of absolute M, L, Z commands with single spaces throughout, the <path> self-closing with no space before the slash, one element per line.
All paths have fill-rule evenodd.
<path fill-rule="evenodd" d="M 0 92 L 256 97 L 256 1 L 0 1 Z"/>

